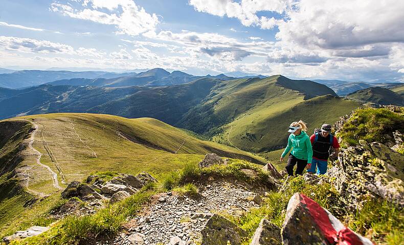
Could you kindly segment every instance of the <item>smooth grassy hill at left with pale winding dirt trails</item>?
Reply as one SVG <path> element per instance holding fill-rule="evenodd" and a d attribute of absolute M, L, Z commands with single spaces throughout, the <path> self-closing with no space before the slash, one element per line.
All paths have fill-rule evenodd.
<path fill-rule="evenodd" d="M 96 171 L 137 174 L 144 170 L 160 179 L 211 152 L 265 163 L 258 156 L 199 140 L 152 118 L 31 115 L 0 121 L 0 136 L 2 234 L 8 226 L 16 225 L 17 217 L 32 219 L 35 215 L 30 212 L 53 205 L 66 183 L 81 181 Z M 40 197 L 47 198 L 36 202 Z"/>

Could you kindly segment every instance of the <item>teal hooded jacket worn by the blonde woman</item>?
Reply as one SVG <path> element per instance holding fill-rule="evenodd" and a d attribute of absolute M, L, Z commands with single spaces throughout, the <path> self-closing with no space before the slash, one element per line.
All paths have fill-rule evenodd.
<path fill-rule="evenodd" d="M 307 163 L 311 163 L 313 157 L 313 150 L 311 148 L 310 137 L 306 132 L 302 131 L 299 135 L 290 134 L 287 139 L 287 146 L 285 151 L 282 153 L 282 157 L 290 151 L 290 154 L 294 155 L 296 158 L 301 160 L 307 160 Z"/>

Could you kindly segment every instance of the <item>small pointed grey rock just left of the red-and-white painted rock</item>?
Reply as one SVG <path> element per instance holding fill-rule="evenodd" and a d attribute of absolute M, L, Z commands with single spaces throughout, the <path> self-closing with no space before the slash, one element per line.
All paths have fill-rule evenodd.
<path fill-rule="evenodd" d="M 281 245 L 281 229 L 263 218 L 255 230 L 250 245 Z"/>

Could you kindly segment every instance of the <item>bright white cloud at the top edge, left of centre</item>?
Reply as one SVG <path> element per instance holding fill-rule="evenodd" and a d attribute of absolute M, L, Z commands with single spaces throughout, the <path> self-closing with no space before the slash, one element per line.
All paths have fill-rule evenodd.
<path fill-rule="evenodd" d="M 154 31 L 159 23 L 156 14 L 147 13 L 144 8 L 137 6 L 131 0 L 91 0 L 83 2 L 82 5 L 84 9 L 74 9 L 71 6 L 54 2 L 50 9 L 72 18 L 111 24 L 118 28 L 118 34 L 132 36 Z"/>

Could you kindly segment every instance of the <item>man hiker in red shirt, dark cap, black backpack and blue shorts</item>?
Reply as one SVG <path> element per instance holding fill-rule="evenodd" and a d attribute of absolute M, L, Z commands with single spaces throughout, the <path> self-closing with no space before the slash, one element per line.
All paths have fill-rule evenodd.
<path fill-rule="evenodd" d="M 315 134 L 311 135 L 310 141 L 313 147 L 313 159 L 311 166 L 310 164 L 307 165 L 307 172 L 324 175 L 327 172 L 330 148 L 332 147 L 334 149 L 335 156 L 340 152 L 338 139 L 331 134 L 331 125 L 323 124 L 321 130 L 315 130 Z"/>

